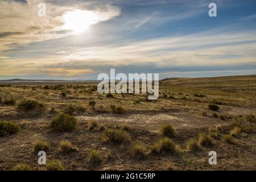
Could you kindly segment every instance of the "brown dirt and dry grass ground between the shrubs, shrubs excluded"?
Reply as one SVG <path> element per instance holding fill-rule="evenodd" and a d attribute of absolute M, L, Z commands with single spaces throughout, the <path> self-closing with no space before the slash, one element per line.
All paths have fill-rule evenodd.
<path fill-rule="evenodd" d="M 246 119 L 249 114 L 256 115 L 256 76 L 166 79 L 160 81 L 159 98 L 154 102 L 147 102 L 146 94 L 113 94 L 113 98 L 106 97 L 106 94 L 98 94 L 97 84 L 93 83 L 54 83 L 49 87 L 10 84 L 0 84 L 0 97 L 2 100 L 14 98 L 16 104 L 1 105 L 0 121 L 14 121 L 21 130 L 0 137 L 0 170 L 11 170 L 19 163 L 29 164 L 35 170 L 44 170 L 44 166 L 38 164 L 38 155 L 34 153 L 33 143 L 36 140 L 47 140 L 51 144 L 47 160 L 58 159 L 68 170 L 256 169 L 256 124 Z M 66 97 L 61 96 L 61 90 L 67 91 Z M 39 101 L 47 109 L 42 113 L 20 112 L 17 105 L 24 100 Z M 89 106 L 89 101 L 96 101 L 96 106 Z M 216 101 L 220 109 L 209 110 L 208 105 L 216 104 Z M 62 113 L 67 105 L 84 108 L 73 114 L 78 123 L 76 130 L 69 133 L 52 131 L 49 122 Z M 127 113 L 115 114 L 111 105 L 121 106 Z M 213 117 L 213 113 L 218 117 Z M 106 129 L 128 123 L 131 126 L 129 143 L 106 142 L 102 130 L 89 130 L 91 121 L 97 121 Z M 174 126 L 176 136 L 172 140 L 180 152 L 175 155 L 151 155 L 150 146 L 163 138 L 160 127 L 164 123 Z M 221 136 L 230 134 L 238 123 L 243 132 L 232 137 L 232 143 L 222 140 Z M 212 137 L 212 145 L 200 146 L 196 152 L 185 150 L 185 142 L 189 138 L 197 138 L 199 133 L 208 133 L 210 127 L 216 126 L 225 127 L 225 130 L 218 131 L 219 137 Z M 71 141 L 79 151 L 61 154 L 58 146 L 63 139 Z M 136 143 L 146 148 L 146 159 L 138 160 L 131 156 L 131 147 Z M 88 154 L 92 149 L 100 151 L 101 162 L 89 162 Z M 217 152 L 217 165 L 208 164 L 209 151 Z M 109 152 L 111 158 L 108 157 Z"/>

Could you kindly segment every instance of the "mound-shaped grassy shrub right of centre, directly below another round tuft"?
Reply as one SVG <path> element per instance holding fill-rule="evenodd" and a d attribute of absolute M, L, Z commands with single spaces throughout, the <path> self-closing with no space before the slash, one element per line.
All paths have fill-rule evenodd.
<path fill-rule="evenodd" d="M 177 147 L 170 138 L 160 139 L 154 146 L 151 147 L 152 154 L 176 154 Z"/>

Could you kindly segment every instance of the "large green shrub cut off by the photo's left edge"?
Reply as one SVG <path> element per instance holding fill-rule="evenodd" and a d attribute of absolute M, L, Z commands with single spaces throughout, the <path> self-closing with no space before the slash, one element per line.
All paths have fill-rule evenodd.
<path fill-rule="evenodd" d="M 15 134 L 20 130 L 20 126 L 15 122 L 0 121 L 0 137 Z"/>

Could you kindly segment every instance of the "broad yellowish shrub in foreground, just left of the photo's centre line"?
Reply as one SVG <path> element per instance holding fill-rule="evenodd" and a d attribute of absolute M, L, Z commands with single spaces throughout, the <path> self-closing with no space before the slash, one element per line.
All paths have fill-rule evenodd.
<path fill-rule="evenodd" d="M 104 131 L 105 137 L 109 142 L 123 143 L 130 140 L 130 136 L 126 131 L 108 129 Z"/>

